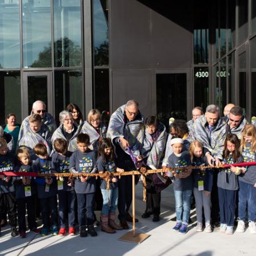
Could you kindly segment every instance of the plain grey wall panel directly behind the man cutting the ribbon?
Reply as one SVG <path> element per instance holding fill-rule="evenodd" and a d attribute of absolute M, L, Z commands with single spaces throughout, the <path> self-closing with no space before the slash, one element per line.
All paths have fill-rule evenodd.
<path fill-rule="evenodd" d="M 151 115 L 151 71 L 112 71 L 112 112 L 129 100 L 137 100 L 145 116 Z"/>

